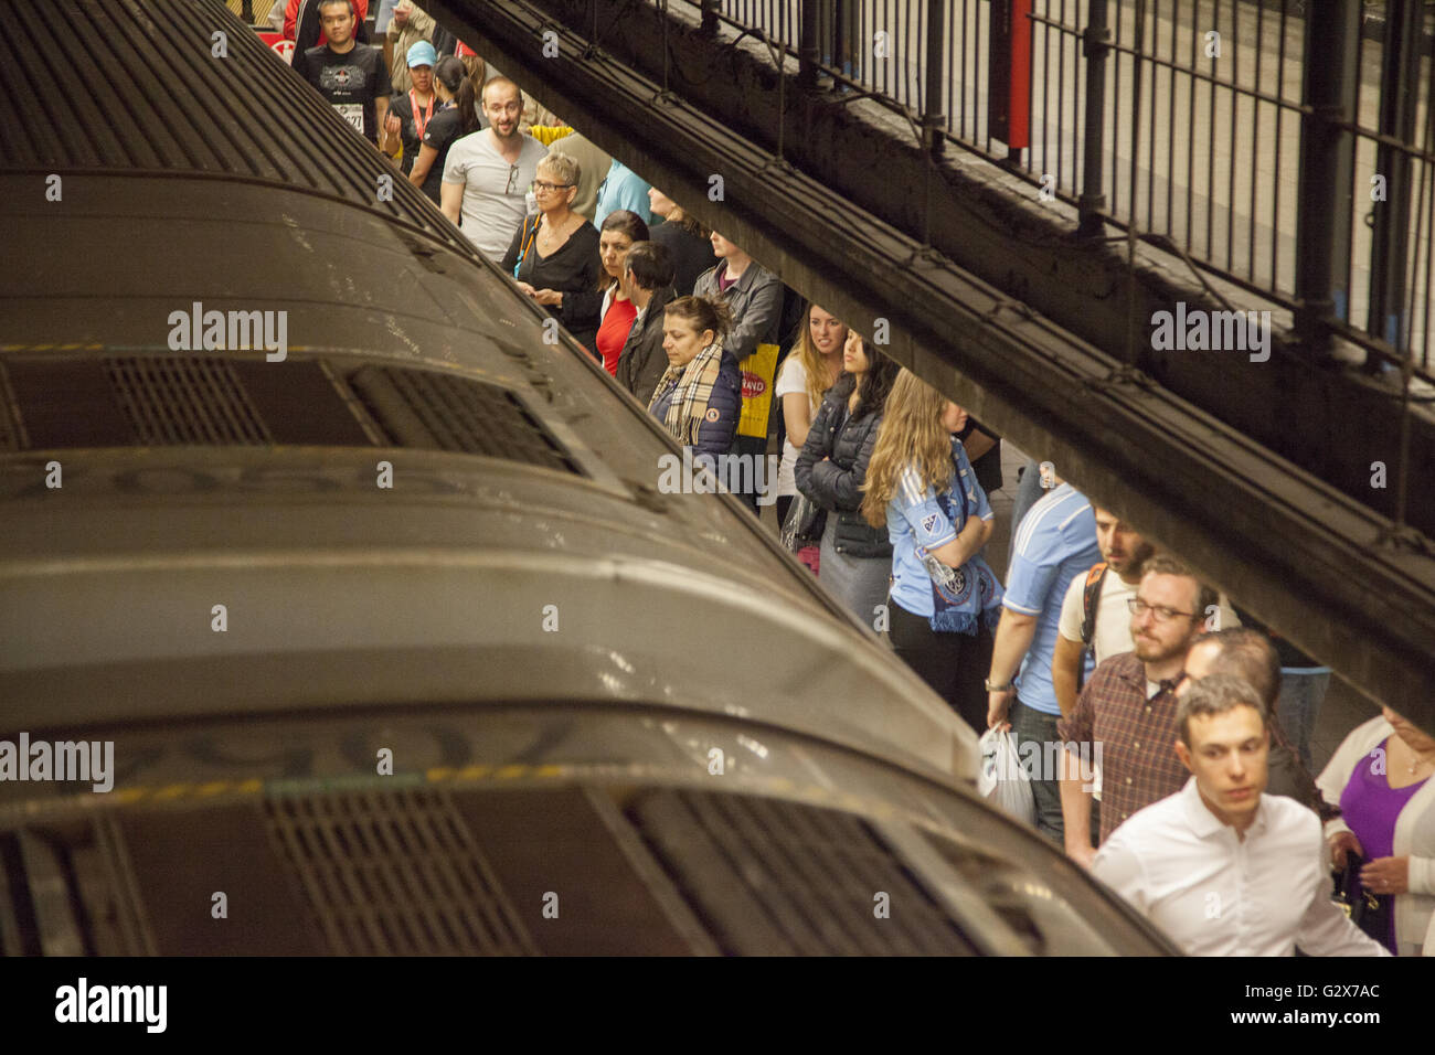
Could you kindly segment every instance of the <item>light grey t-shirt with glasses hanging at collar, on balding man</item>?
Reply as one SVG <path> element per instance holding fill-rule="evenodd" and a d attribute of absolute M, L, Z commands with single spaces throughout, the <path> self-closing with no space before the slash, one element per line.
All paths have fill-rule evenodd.
<path fill-rule="evenodd" d="M 525 135 L 518 164 L 512 165 L 489 145 L 486 131 L 455 139 L 449 148 L 443 182 L 464 184 L 464 237 L 489 260 L 497 263 L 508 253 L 528 214 L 528 184 L 538 177 L 538 162 L 547 154 L 547 146 Z"/>

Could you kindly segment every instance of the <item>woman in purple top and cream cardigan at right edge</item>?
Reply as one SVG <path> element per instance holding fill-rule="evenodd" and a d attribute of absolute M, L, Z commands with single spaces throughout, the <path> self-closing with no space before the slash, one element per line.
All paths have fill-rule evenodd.
<path fill-rule="evenodd" d="M 1386 944 L 1418 956 L 1435 913 L 1435 738 L 1391 708 L 1356 726 L 1316 784 L 1340 805 L 1326 824 L 1332 866 L 1347 851 L 1365 863 L 1360 884 L 1393 897 Z"/>

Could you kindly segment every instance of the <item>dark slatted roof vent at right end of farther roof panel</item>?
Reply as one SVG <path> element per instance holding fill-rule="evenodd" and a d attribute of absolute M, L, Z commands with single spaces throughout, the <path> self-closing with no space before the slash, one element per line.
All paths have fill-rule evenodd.
<path fill-rule="evenodd" d="M 578 466 L 508 389 L 429 370 L 366 366 L 349 386 L 396 446 L 461 451 L 548 469 Z"/>

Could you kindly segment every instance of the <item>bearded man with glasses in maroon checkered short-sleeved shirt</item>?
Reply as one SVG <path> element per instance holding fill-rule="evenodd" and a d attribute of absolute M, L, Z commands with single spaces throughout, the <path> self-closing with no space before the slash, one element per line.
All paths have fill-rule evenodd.
<path fill-rule="evenodd" d="M 1185 784 L 1185 766 L 1171 746 L 1175 688 L 1208 604 L 1215 604 L 1215 590 L 1184 564 L 1164 555 L 1148 560 L 1128 604 L 1134 650 L 1098 666 L 1075 711 L 1056 725 L 1066 741 L 1060 774 L 1066 853 L 1088 867 L 1096 854 L 1091 787 L 1083 785 L 1092 759 L 1102 768 L 1102 843 L 1134 812 Z"/>

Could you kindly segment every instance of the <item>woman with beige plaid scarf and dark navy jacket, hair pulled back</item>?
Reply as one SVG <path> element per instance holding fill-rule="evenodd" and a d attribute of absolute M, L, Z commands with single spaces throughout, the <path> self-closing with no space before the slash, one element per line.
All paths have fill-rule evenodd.
<path fill-rule="evenodd" d="M 663 316 L 667 372 L 653 390 L 649 413 L 673 439 L 718 458 L 732 448 L 742 413 L 742 372 L 723 349 L 732 310 L 723 300 L 679 297 Z"/>

